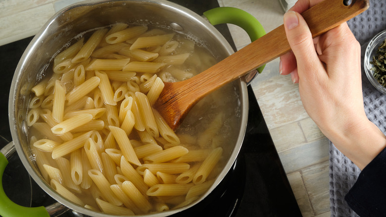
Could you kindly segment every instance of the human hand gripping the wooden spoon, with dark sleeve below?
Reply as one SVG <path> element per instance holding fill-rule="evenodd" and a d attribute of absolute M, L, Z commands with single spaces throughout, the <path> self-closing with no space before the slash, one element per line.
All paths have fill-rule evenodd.
<path fill-rule="evenodd" d="M 284 15 L 291 52 L 280 73 L 299 83 L 304 109 L 336 147 L 363 169 L 386 146 L 386 137 L 363 107 L 360 45 L 343 23 L 312 39 L 299 14 L 322 0 L 299 0 Z"/>

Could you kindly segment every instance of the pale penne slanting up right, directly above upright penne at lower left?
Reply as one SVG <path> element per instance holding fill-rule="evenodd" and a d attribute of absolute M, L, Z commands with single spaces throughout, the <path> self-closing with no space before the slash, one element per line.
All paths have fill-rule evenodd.
<path fill-rule="evenodd" d="M 52 150 L 52 159 L 57 159 L 63 157 L 71 152 L 82 148 L 85 145 L 85 142 L 88 138 L 90 138 L 93 131 L 86 132 L 78 137 L 75 137 L 61 145 L 56 146 Z"/>

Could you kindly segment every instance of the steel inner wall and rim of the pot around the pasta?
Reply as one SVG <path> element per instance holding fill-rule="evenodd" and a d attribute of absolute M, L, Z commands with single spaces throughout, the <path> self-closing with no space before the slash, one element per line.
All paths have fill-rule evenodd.
<path fill-rule="evenodd" d="M 50 70 L 47 69 L 52 67 L 53 56 L 63 50 L 64 45 L 71 43 L 71 39 L 79 36 L 81 33 L 119 22 L 158 26 L 182 33 L 192 39 L 196 46 L 205 47 L 217 60 L 222 60 L 233 53 L 232 48 L 224 37 L 209 22 L 187 8 L 164 0 L 80 2 L 55 14 L 35 36 L 21 57 L 11 85 L 9 122 L 12 138 L 24 166 L 34 180 L 49 195 L 71 209 L 85 214 L 93 214 L 94 216 L 101 214 L 90 213 L 89 210 L 62 198 L 43 180 L 31 156 L 29 139 L 27 137 L 30 129 L 26 125 L 26 114 L 29 100 L 32 96 L 31 88 L 38 81 L 46 76 L 50 76 L 51 73 L 48 72 Z M 235 81 L 230 85 L 232 85 L 232 88 L 236 90 L 236 94 L 239 96 L 238 104 L 240 107 L 237 112 L 240 113 L 240 122 L 233 129 L 238 132 L 238 138 L 235 139 L 235 146 L 227 151 L 226 156 L 228 160 L 225 161 L 224 169 L 219 173 L 214 185 L 202 197 L 209 194 L 225 176 L 241 148 L 247 119 L 246 85 L 242 80 Z M 176 211 L 153 215 L 164 216 L 174 212 Z"/>

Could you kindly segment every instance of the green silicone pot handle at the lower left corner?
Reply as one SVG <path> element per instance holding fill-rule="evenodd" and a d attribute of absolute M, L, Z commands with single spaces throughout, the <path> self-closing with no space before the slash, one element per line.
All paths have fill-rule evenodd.
<path fill-rule="evenodd" d="M 2 188 L 2 174 L 8 160 L 0 153 L 0 215 L 2 217 L 49 217 L 45 207 L 22 207 L 13 203 Z"/>

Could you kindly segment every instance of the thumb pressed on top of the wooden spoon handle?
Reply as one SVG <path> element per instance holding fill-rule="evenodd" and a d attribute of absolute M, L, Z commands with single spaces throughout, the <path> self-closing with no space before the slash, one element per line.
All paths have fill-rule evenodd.
<path fill-rule="evenodd" d="M 284 27 L 287 40 L 296 57 L 299 76 L 301 76 L 300 73 L 302 71 L 308 71 L 310 69 L 307 67 L 315 66 L 318 63 L 320 64 L 312 40 L 312 34 L 306 21 L 295 11 L 288 11 L 284 14 Z"/>

